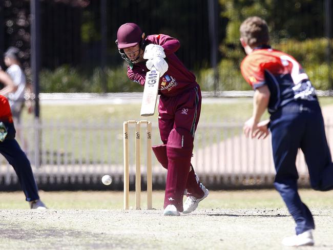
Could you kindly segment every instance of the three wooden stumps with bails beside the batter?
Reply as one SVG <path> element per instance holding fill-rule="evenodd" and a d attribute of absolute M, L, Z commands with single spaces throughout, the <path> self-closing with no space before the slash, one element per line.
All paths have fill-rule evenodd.
<path fill-rule="evenodd" d="M 124 197 L 123 209 L 129 209 L 130 173 L 129 173 L 129 124 L 135 124 L 135 209 L 141 209 L 141 160 L 140 160 L 140 127 L 147 124 L 147 209 L 152 209 L 152 122 L 147 120 L 129 120 L 123 122 L 123 155 L 124 155 Z"/>

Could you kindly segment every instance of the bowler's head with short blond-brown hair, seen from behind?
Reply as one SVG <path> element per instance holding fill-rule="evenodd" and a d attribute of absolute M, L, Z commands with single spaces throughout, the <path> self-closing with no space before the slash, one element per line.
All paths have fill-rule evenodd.
<path fill-rule="evenodd" d="M 244 20 L 240 28 L 240 37 L 251 47 L 268 45 L 268 26 L 264 19 L 258 16 L 251 16 Z"/>

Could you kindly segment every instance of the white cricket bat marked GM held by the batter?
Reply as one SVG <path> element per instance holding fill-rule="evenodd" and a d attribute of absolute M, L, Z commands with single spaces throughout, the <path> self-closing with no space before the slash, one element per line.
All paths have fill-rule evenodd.
<path fill-rule="evenodd" d="M 142 103 L 141 103 L 141 116 L 151 116 L 155 113 L 158 87 L 159 87 L 160 72 L 152 67 L 145 75 Z"/>

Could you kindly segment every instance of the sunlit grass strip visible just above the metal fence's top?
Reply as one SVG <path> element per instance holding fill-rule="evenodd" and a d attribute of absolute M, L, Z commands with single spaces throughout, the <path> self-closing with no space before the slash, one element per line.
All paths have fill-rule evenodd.
<path fill-rule="evenodd" d="M 224 98 L 224 102 L 205 103 L 203 100 L 200 115 L 201 122 L 221 122 L 225 120 L 244 120 L 252 114 L 252 98 Z M 333 97 L 320 97 L 322 106 L 333 105 Z M 123 121 L 140 119 L 140 103 L 126 105 L 42 105 L 40 117 L 42 120 L 58 121 Z M 267 117 L 267 114 L 266 114 Z M 31 115 L 24 112 L 24 120 Z M 150 118 L 157 120 L 157 114 Z"/>

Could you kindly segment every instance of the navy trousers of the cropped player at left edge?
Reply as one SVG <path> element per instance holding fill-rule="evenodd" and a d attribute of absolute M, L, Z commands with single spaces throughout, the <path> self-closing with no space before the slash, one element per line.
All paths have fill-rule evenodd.
<path fill-rule="evenodd" d="M 0 153 L 8 160 L 16 172 L 27 201 L 39 199 L 38 189 L 26 154 L 15 139 L 0 142 Z"/>

